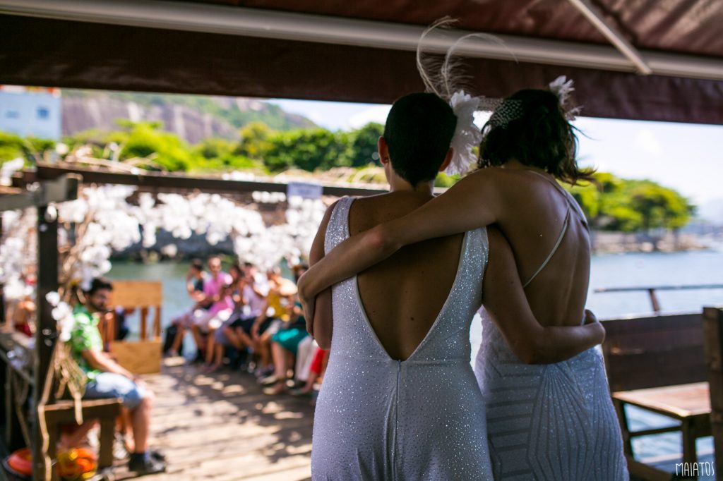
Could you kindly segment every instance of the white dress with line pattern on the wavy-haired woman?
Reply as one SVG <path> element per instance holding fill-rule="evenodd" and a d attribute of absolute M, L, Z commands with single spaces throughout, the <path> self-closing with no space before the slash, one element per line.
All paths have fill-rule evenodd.
<path fill-rule="evenodd" d="M 476 376 L 495 481 L 623 481 L 628 469 L 598 348 L 522 363 L 482 309 Z"/>

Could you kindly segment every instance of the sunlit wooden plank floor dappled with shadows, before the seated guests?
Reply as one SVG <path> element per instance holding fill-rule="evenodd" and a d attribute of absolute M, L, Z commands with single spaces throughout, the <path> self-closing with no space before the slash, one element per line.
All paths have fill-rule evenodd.
<path fill-rule="evenodd" d="M 196 365 L 165 360 L 144 376 L 155 393 L 150 445 L 168 458 L 153 481 L 309 480 L 314 408 L 309 399 L 266 396 L 238 371 L 207 376 Z M 116 480 L 133 477 L 123 468 Z"/>

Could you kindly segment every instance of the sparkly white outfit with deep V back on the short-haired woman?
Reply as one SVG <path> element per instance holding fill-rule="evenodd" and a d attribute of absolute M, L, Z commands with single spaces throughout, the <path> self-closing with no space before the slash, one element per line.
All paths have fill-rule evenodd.
<path fill-rule="evenodd" d="M 325 251 L 348 237 L 353 200 L 336 205 Z M 313 480 L 492 481 L 484 402 L 469 345 L 486 262 L 486 230 L 466 233 L 450 295 L 427 337 L 404 361 L 391 359 L 377 339 L 356 277 L 333 287 L 332 348 L 317 399 Z"/>

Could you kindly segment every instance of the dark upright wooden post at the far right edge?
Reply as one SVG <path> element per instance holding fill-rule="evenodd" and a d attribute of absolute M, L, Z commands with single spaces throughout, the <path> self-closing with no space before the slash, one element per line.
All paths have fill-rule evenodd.
<path fill-rule="evenodd" d="M 723 469 L 723 308 L 703 308 L 703 338 L 711 389 L 715 466 Z M 718 476 L 722 479 L 720 474 Z"/>

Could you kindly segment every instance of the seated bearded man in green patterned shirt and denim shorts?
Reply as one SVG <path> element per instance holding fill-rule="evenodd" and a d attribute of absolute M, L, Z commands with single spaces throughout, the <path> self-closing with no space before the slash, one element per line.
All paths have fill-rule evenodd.
<path fill-rule="evenodd" d="M 97 277 L 85 292 L 85 305 L 73 311 L 75 324 L 70 336 L 73 358 L 87 375 L 86 399 L 117 397 L 131 412 L 134 449 L 128 468 L 139 475 L 149 475 L 166 470 L 160 456 L 148 450 L 148 433 L 153 393 L 143 381 L 111 359 L 103 351 L 103 340 L 98 331 L 98 321 L 108 312 L 113 285 Z"/>

